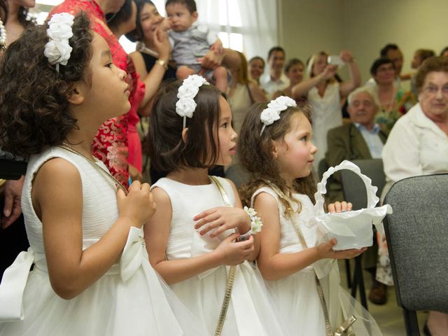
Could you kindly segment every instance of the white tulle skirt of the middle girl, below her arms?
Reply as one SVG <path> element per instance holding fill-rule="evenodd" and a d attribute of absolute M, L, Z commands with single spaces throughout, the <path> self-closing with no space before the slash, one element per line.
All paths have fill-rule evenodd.
<path fill-rule="evenodd" d="M 195 311 L 214 335 L 223 305 L 230 267 L 220 266 L 171 285 L 179 300 Z M 249 262 L 238 265 L 223 336 L 288 335 L 281 325 L 258 269 Z"/>

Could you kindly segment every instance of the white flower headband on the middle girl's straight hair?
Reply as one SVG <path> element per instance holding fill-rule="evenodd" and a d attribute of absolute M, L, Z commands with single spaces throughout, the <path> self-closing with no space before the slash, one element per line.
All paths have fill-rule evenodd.
<path fill-rule="evenodd" d="M 176 113 L 183 117 L 183 129 L 186 128 L 187 117 L 192 118 L 196 109 L 195 97 L 202 85 L 209 85 L 204 77 L 190 75 L 184 79 L 177 92 L 179 100 L 176 102 Z"/>

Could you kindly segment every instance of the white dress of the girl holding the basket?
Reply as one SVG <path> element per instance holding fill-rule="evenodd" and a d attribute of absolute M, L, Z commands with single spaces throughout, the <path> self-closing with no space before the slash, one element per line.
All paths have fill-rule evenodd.
<path fill-rule="evenodd" d="M 252 203 L 260 193 L 274 197 L 280 214 L 280 253 L 296 253 L 302 251 L 302 244 L 290 218 L 283 216 L 284 207 L 278 195 L 269 187 L 255 191 Z M 316 226 L 309 225 L 314 216 L 314 205 L 307 195 L 293 194 L 295 200 L 302 204 L 300 213 L 298 206 L 291 204 L 295 211 L 295 223 L 300 225 L 307 246 L 318 244 Z M 282 323 L 292 335 L 325 335 L 325 318 L 321 300 L 316 288 L 314 274 L 317 274 L 323 288 L 323 295 L 328 307 L 332 330 L 335 330 L 345 318 L 352 314 L 358 318 L 353 324 L 356 335 L 381 335 L 381 331 L 372 316 L 356 300 L 339 286 L 339 268 L 336 260 L 323 259 L 313 265 L 275 281 L 265 281 L 269 293 L 276 304 Z"/>

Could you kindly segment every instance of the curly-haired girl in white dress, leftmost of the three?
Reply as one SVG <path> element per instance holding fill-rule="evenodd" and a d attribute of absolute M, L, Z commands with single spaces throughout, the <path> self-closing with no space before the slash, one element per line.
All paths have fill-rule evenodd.
<path fill-rule="evenodd" d="M 125 76 L 84 14 L 53 15 L 3 56 L 0 146 L 29 158 L 30 248 L 3 274 L 1 335 L 207 335 L 148 262 L 150 186 L 127 193 L 90 151 L 130 108 Z"/>

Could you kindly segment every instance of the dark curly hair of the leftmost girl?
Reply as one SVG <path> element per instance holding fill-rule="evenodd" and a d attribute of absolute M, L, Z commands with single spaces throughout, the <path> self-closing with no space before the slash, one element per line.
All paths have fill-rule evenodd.
<path fill-rule="evenodd" d="M 76 15 L 69 40 L 73 50 L 59 73 L 43 55 L 47 28 L 27 29 L 8 46 L 0 64 L 0 147 L 22 157 L 61 144 L 77 127 L 68 98 L 73 83 L 90 83 L 93 35 L 87 15 Z"/>

